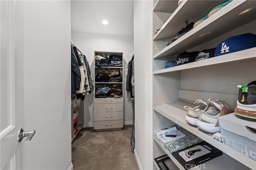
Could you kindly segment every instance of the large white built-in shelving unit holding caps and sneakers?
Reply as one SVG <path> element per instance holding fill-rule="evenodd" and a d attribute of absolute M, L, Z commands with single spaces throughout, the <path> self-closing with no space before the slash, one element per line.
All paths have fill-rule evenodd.
<path fill-rule="evenodd" d="M 185 27 L 184 21 L 196 22 L 222 1 L 159 0 L 153 10 L 153 130 L 178 125 L 222 150 L 223 155 L 205 162 L 205 169 L 256 169 L 256 161 L 213 139 L 198 127 L 185 121 L 184 106 L 194 107 L 199 98 L 225 100 L 236 107 L 238 84 L 256 79 L 256 48 L 246 49 L 210 59 L 164 68 L 183 51 L 202 51 L 216 47 L 221 41 L 243 33 L 256 34 L 256 2 L 234 0 L 207 20 L 167 46 Z M 175 8 L 166 9 L 166 6 Z M 166 16 L 169 16 L 167 18 Z M 167 47 L 166 47 L 167 46 Z M 154 138 L 153 156 L 168 154 L 180 169 L 182 165 Z"/>

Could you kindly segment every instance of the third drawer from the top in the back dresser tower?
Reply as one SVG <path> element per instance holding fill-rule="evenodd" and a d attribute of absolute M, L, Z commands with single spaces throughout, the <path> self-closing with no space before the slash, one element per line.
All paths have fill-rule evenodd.
<path fill-rule="evenodd" d="M 96 112 L 94 113 L 94 121 L 105 121 L 105 120 L 121 120 L 124 119 L 123 111 L 115 112 Z"/>

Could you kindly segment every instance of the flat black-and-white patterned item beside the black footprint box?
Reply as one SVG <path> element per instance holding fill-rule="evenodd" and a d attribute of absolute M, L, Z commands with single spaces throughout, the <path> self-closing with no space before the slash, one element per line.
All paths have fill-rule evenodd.
<path fill-rule="evenodd" d="M 175 141 L 171 141 L 169 143 L 166 144 L 166 149 L 170 152 L 176 152 L 178 150 L 182 150 L 185 149 L 187 147 L 196 145 L 200 142 L 204 141 L 203 139 L 201 139 L 200 137 L 197 137 L 196 135 L 192 134 L 192 135 L 188 135 L 186 137 L 177 139 Z"/>

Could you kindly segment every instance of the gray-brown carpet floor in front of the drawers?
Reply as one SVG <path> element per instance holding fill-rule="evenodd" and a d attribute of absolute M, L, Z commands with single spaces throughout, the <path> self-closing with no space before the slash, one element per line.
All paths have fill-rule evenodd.
<path fill-rule="evenodd" d="M 118 131 L 82 128 L 72 143 L 74 170 L 138 170 L 131 134 L 132 125 Z"/>

